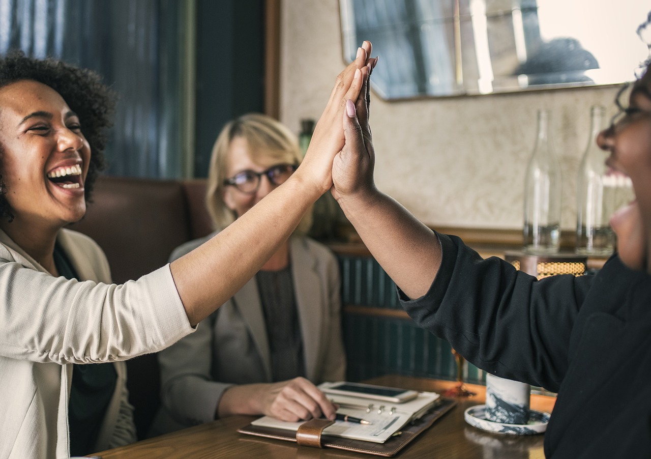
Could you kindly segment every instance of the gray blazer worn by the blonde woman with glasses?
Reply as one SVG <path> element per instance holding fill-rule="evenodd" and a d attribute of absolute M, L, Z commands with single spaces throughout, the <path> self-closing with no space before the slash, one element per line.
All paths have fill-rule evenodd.
<path fill-rule="evenodd" d="M 171 260 L 215 234 L 181 245 Z M 307 379 L 317 384 L 343 380 L 346 357 L 337 259 L 327 247 L 305 236 L 292 236 L 289 251 Z M 195 333 L 159 352 L 158 359 L 161 409 L 152 436 L 214 420 L 230 385 L 273 382 L 255 277 L 203 320 Z"/>

